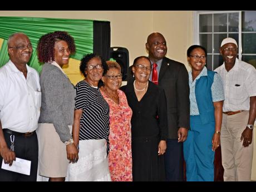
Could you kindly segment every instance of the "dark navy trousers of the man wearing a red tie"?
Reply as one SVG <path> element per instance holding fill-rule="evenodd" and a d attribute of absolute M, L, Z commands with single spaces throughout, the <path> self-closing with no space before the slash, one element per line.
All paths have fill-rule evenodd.
<path fill-rule="evenodd" d="M 178 142 L 178 139 L 168 139 L 164 161 L 166 180 L 184 181 L 183 142 Z"/>

